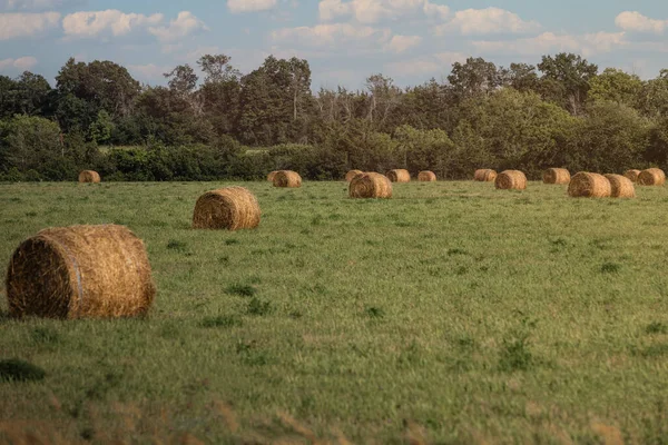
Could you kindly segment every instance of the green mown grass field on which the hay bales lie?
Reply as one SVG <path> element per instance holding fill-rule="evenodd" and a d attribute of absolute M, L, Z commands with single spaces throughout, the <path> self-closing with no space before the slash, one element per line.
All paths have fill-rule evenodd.
<path fill-rule="evenodd" d="M 0 359 L 46 372 L 0 377 L 0 441 L 668 442 L 668 189 L 248 182 L 258 229 L 190 229 L 224 185 L 0 185 L 3 271 L 41 228 L 117 222 L 158 287 L 148 319 L 0 316 Z"/>

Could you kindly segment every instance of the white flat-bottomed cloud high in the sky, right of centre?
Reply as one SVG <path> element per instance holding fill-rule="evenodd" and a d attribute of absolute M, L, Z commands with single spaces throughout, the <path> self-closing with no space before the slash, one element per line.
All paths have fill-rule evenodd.
<path fill-rule="evenodd" d="M 540 29 L 536 21 L 524 21 L 518 14 L 499 8 L 456 11 L 445 24 L 434 28 L 436 36 L 460 32 L 464 36 L 491 33 L 525 33 Z"/>

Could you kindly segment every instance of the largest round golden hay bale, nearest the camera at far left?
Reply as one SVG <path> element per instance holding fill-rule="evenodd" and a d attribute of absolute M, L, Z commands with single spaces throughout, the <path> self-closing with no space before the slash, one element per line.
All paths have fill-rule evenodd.
<path fill-rule="evenodd" d="M 12 317 L 141 316 L 156 294 L 144 243 L 116 225 L 39 231 L 14 250 L 6 286 Z"/>

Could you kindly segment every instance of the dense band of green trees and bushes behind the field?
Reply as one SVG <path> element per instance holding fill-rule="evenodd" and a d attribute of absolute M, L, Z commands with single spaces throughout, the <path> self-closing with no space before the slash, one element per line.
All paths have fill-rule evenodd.
<path fill-rule="evenodd" d="M 668 70 L 642 80 L 572 53 L 509 68 L 470 58 L 443 82 L 402 89 L 379 73 L 364 90 L 314 92 L 306 60 L 268 57 L 242 73 L 214 55 L 165 77 L 143 86 L 115 62 L 75 59 L 55 88 L 28 71 L 0 76 L 0 180 L 72 180 L 84 168 L 105 180 L 210 180 L 668 167 Z"/>

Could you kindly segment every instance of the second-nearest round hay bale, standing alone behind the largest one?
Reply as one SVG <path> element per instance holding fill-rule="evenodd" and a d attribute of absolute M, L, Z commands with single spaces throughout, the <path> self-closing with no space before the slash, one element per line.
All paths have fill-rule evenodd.
<path fill-rule="evenodd" d="M 195 229 L 254 229 L 259 225 L 259 204 L 244 187 L 207 191 L 195 204 Z"/>

